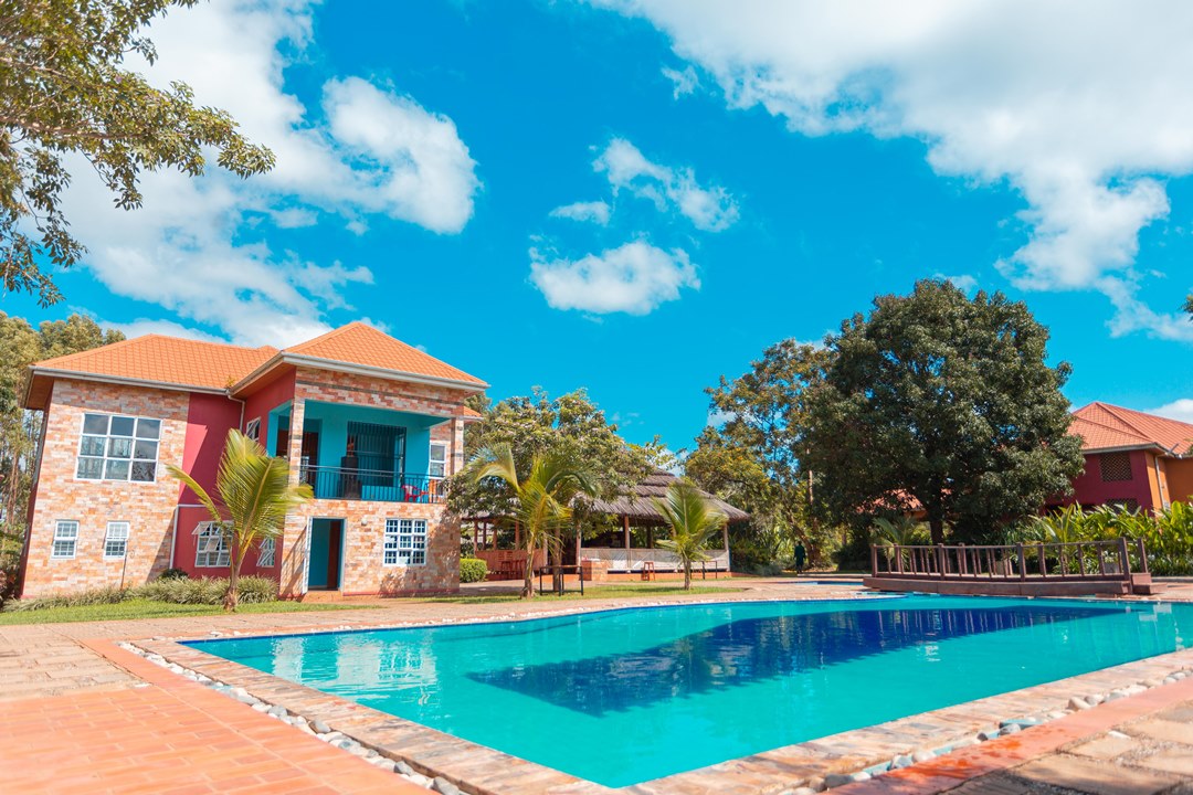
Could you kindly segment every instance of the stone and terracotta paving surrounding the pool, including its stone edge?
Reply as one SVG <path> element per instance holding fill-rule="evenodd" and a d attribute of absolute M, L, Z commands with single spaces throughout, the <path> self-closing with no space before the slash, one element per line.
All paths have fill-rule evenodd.
<path fill-rule="evenodd" d="M 693 601 L 849 595 L 840 585 L 796 584 L 790 579 L 722 584 L 748 590 L 700 595 Z M 1193 588 L 1166 596 L 1193 598 Z M 656 601 L 674 600 L 660 597 L 649 602 L 633 600 L 632 603 Z M 389 601 L 384 608 L 375 610 L 0 627 L 0 789 L 178 795 L 427 791 L 109 642 L 137 639 L 140 645 L 154 651 L 185 650 L 184 657 L 202 656 L 178 662 L 196 670 L 209 666 L 209 673 L 221 673 L 217 678 L 222 681 L 245 684 L 251 692 L 271 703 L 301 706 L 303 708 L 292 712 L 308 718 L 322 715 L 334 728 L 387 756 L 409 759 L 420 772 L 443 770 L 458 774 L 447 776 L 457 782 L 483 784 L 474 787 L 474 791 L 610 793 L 589 782 L 446 738 L 392 716 L 379 720 L 381 714 L 367 708 L 203 656 L 178 646 L 169 638 L 515 619 L 604 609 L 629 602 Z M 1177 656 L 1185 666 L 1193 662 L 1193 652 L 1177 652 Z M 1173 667 L 1174 660 L 1166 659 L 1172 657 L 1129 664 L 1135 667 L 1126 673 L 1136 678 L 1155 676 Z M 1086 675 L 1081 685 L 1084 690 L 1076 692 L 1108 690 L 1123 684 L 1121 676 L 1121 671 L 1115 675 L 1114 670 Z M 247 678 L 237 682 L 236 677 Z M 983 700 L 951 712 L 938 710 L 860 729 L 847 737 L 778 749 L 639 784 L 626 791 L 636 795 L 791 791 L 811 775 L 858 770 L 883 754 L 889 759 L 892 747 L 909 747 L 908 738 L 925 727 L 938 737 L 957 737 L 976 725 L 988 725 L 991 715 L 1040 712 L 1041 701 L 1057 703 L 1074 692 L 1071 684 L 1040 685 L 995 697 L 1003 700 L 996 706 L 990 703 L 993 700 Z M 299 703 L 291 703 L 295 698 Z M 388 733 L 377 734 L 383 729 Z M 420 756 L 434 764 L 418 764 Z M 834 791 L 842 795 L 947 790 L 957 790 L 960 795 L 1074 791 L 1118 795 L 1161 790 L 1193 794 L 1191 759 L 1193 677 Z M 1104 770 L 1100 777 L 1096 775 L 1099 769 Z M 1172 789 L 1174 787 L 1176 789 Z"/>

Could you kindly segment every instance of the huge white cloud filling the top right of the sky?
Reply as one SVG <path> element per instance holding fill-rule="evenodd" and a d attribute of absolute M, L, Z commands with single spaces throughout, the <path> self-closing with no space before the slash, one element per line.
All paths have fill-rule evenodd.
<path fill-rule="evenodd" d="M 734 108 L 913 137 L 941 174 L 1008 181 L 1031 232 L 1009 279 L 1139 308 L 1139 231 L 1168 215 L 1161 178 L 1193 172 L 1189 4 L 591 1 L 649 19 Z M 1163 313 L 1115 323 L 1187 339 Z"/>

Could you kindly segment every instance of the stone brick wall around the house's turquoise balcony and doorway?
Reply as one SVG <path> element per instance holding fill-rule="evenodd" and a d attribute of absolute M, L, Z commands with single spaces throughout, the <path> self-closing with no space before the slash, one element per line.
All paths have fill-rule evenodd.
<path fill-rule="evenodd" d="M 464 464 L 464 390 L 420 384 L 401 384 L 378 378 L 299 367 L 290 427 L 301 428 L 307 400 L 364 405 L 438 417 L 452 417 L 431 429 L 434 441 L 449 446 L 447 474 Z M 298 482 L 302 436 L 290 437 L 291 480 Z M 446 516 L 443 505 L 426 503 L 357 502 L 316 499 L 286 520 L 280 547 L 282 591 L 302 592 L 307 566 L 307 533 L 311 518 L 344 520 L 344 594 L 401 595 L 453 592 L 459 588 L 459 523 Z M 427 563 L 422 566 L 385 566 L 382 546 L 387 518 L 427 520 Z"/>

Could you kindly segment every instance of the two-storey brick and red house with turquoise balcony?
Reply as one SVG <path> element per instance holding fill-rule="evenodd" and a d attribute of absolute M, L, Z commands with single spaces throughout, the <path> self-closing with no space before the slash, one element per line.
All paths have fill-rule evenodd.
<path fill-rule="evenodd" d="M 149 335 L 38 362 L 21 595 L 137 585 L 169 567 L 227 576 L 210 516 L 166 465 L 214 490 L 233 428 L 286 458 L 315 497 L 243 573 L 286 597 L 455 591 L 459 527 L 441 485 L 477 417 L 464 400 L 486 386 L 360 323 L 282 350 Z"/>

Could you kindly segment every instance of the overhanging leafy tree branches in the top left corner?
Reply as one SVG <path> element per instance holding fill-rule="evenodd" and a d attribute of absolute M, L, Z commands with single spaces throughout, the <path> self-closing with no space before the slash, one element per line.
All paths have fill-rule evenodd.
<path fill-rule="evenodd" d="M 0 281 L 7 291 L 61 299 L 47 262 L 74 265 L 84 246 L 62 212 L 69 155 L 81 156 L 117 207 L 141 206 L 138 176 L 202 174 L 208 148 L 241 176 L 268 170 L 233 118 L 196 106 L 191 89 L 154 87 L 125 64 L 156 58 L 144 27 L 196 0 L 0 0 Z"/>

